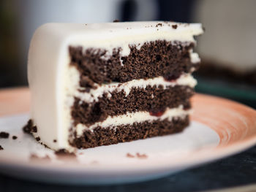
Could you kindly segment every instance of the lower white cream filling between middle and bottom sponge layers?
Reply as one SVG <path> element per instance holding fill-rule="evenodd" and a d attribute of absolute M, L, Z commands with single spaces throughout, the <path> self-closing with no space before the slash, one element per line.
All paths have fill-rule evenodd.
<path fill-rule="evenodd" d="M 83 124 L 79 123 L 75 128 L 77 130 L 78 137 L 82 136 L 83 131 L 91 130 L 97 126 L 101 126 L 102 128 L 106 127 L 113 127 L 121 126 L 121 125 L 132 125 L 132 123 L 143 123 L 145 121 L 151 122 L 153 120 L 173 120 L 173 118 L 185 118 L 186 115 L 189 115 L 190 110 L 183 110 L 183 106 L 180 105 L 177 108 L 165 110 L 162 116 L 152 116 L 149 112 L 140 111 L 140 112 L 127 112 L 125 115 L 118 115 L 114 117 L 108 117 L 106 120 L 94 123 L 92 126 L 84 126 Z"/>

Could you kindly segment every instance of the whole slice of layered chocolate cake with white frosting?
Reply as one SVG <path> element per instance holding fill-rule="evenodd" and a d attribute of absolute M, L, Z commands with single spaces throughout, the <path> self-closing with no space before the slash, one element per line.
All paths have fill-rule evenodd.
<path fill-rule="evenodd" d="M 29 50 L 30 127 L 53 150 L 162 136 L 189 125 L 200 24 L 48 23 Z"/>

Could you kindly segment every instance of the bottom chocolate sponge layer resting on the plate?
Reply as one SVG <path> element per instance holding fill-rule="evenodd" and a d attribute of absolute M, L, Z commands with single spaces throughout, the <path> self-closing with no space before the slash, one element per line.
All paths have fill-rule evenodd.
<path fill-rule="evenodd" d="M 118 142 L 130 142 L 148 137 L 175 134 L 183 131 L 188 125 L 189 117 L 187 116 L 186 118 L 173 118 L 171 121 L 165 119 L 111 128 L 96 127 L 94 131 L 84 131 L 81 137 L 77 137 L 75 134 L 75 139 L 70 144 L 78 148 L 89 148 L 116 144 Z"/>

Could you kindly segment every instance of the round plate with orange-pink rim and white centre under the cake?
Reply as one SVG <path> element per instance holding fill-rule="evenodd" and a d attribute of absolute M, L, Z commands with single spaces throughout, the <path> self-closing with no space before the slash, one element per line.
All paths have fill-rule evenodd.
<path fill-rule="evenodd" d="M 256 143 L 256 111 L 214 96 L 196 94 L 189 128 L 181 134 L 56 155 L 22 126 L 29 120 L 29 90 L 0 91 L 0 172 L 48 182 L 110 184 L 163 177 L 241 152 Z M 12 139 L 17 136 L 18 139 Z M 48 157 L 48 158 L 45 158 Z"/>

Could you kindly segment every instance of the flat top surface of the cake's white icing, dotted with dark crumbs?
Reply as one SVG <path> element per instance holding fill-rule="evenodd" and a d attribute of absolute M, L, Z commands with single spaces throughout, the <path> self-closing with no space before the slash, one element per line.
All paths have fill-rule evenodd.
<path fill-rule="evenodd" d="M 176 23 L 170 21 L 113 22 L 113 23 L 46 23 L 37 30 L 51 33 L 87 34 L 99 39 L 116 35 L 147 34 L 152 32 L 172 32 L 174 34 L 199 35 L 203 33 L 200 23 Z M 101 35 L 101 36 L 99 36 Z"/>

